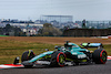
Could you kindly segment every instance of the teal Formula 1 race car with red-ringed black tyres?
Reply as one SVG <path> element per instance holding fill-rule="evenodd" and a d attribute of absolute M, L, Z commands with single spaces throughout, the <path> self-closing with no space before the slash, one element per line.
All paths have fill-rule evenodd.
<path fill-rule="evenodd" d="M 53 51 L 39 55 L 34 55 L 33 51 L 26 51 L 21 56 L 21 64 L 24 67 L 32 67 L 34 64 L 64 66 L 70 64 L 79 65 L 85 64 L 105 64 L 107 51 L 101 43 L 82 43 L 82 47 L 74 43 L 67 41 L 64 46 L 56 46 Z M 89 51 L 88 47 L 98 47 L 95 51 Z"/>

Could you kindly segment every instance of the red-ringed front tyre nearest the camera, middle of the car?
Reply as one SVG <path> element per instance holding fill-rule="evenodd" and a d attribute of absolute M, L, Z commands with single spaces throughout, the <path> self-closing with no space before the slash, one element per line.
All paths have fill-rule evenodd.
<path fill-rule="evenodd" d="M 54 52 L 52 55 L 51 55 L 51 61 L 50 61 L 50 65 L 51 66 L 64 66 L 65 64 L 65 54 L 63 52 Z"/>

